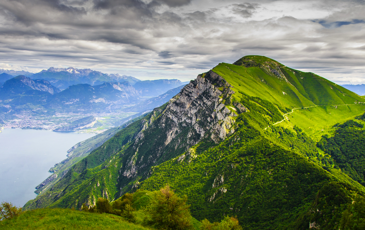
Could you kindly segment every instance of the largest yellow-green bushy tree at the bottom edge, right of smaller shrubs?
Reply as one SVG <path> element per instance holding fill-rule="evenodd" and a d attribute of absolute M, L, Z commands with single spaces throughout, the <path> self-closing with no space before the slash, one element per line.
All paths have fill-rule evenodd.
<path fill-rule="evenodd" d="M 155 197 L 145 208 L 145 224 L 158 229 L 190 229 L 191 215 L 186 195 L 178 197 L 169 185 L 155 192 Z"/>

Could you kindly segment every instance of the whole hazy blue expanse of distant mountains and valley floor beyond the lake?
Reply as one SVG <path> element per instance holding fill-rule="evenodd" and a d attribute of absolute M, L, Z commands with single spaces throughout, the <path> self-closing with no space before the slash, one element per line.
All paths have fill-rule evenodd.
<path fill-rule="evenodd" d="M 51 67 L 34 74 L 2 71 L 3 128 L 100 133 L 134 114 L 162 105 L 186 83 L 177 79 L 141 81 L 132 76 L 72 67 Z M 6 72 L 23 75 L 14 77 Z M 89 119 L 82 120 L 85 117 Z"/>

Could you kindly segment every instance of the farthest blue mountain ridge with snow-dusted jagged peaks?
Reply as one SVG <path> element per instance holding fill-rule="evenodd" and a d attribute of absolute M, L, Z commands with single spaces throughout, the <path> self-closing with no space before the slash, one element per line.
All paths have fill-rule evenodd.
<path fill-rule="evenodd" d="M 31 78 L 33 79 L 45 79 L 51 82 L 58 88 L 67 88 L 73 84 L 90 84 L 97 85 L 103 82 L 124 82 L 127 81 L 131 84 L 139 81 L 132 76 L 126 76 L 119 74 L 106 74 L 99 71 L 95 71 L 89 68 L 78 69 L 74 67 L 68 68 L 55 68 L 50 67 L 47 70 L 42 70 L 38 73 L 34 73 Z"/>

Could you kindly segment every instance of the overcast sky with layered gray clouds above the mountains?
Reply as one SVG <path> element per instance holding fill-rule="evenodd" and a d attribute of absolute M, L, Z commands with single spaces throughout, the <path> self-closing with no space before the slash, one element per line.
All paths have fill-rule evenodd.
<path fill-rule="evenodd" d="M 0 0 L 0 68 L 190 80 L 264 55 L 365 83 L 364 0 Z"/>

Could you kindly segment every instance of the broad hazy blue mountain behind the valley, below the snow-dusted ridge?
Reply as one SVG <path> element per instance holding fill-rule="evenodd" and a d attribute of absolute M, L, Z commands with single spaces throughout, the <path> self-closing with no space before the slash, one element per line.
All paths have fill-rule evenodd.
<path fill-rule="evenodd" d="M 76 84 L 54 95 L 45 107 L 67 112 L 111 112 L 137 102 L 139 97 L 139 92 L 126 81 Z"/>

